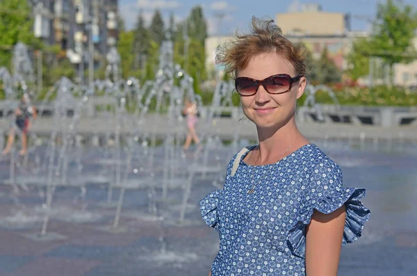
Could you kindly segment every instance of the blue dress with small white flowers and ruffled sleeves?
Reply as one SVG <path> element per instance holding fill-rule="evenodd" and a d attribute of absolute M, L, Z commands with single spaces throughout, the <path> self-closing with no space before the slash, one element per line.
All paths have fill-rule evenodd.
<path fill-rule="evenodd" d="M 345 204 L 342 244 L 361 236 L 370 216 L 359 201 L 366 190 L 344 188 L 341 168 L 316 145 L 270 165 L 247 165 L 246 152 L 231 176 L 237 155 L 227 166 L 224 188 L 200 201 L 204 221 L 220 235 L 212 276 L 305 275 L 305 232 L 314 209 L 332 213 Z"/>

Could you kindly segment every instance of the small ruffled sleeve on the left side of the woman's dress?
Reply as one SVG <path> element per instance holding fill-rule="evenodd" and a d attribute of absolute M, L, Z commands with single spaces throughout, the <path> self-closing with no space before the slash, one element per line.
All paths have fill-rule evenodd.
<path fill-rule="evenodd" d="M 222 192 L 223 190 L 214 190 L 199 202 L 204 222 L 217 232 L 219 232 L 218 203 Z"/>

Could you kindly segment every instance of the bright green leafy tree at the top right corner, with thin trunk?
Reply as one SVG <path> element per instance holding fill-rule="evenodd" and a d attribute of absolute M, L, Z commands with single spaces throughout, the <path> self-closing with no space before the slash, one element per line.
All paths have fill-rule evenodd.
<path fill-rule="evenodd" d="M 413 45 L 416 29 L 417 15 L 413 6 L 400 0 L 378 3 L 371 48 L 363 54 L 384 60 L 389 66 L 391 83 L 393 65 L 410 63 L 417 56 Z"/>

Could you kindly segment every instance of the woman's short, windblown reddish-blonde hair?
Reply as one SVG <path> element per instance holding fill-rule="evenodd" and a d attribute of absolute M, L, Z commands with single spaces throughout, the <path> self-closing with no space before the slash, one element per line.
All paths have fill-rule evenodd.
<path fill-rule="evenodd" d="M 232 78 L 237 70 L 243 70 L 254 56 L 264 53 L 277 53 L 288 60 L 298 76 L 306 76 L 306 54 L 302 45 L 295 46 L 284 38 L 274 20 L 252 17 L 250 33 L 239 35 L 221 44 L 217 49 L 215 61 L 224 66 L 224 72 Z"/>

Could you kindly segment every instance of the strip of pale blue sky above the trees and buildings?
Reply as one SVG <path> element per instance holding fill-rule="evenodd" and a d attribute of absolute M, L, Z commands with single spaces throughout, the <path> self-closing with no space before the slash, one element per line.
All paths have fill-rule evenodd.
<path fill-rule="evenodd" d="M 323 11 L 351 13 L 358 17 L 352 18 L 352 30 L 366 31 L 369 28 L 366 19 L 375 17 L 376 6 L 380 0 L 299 0 L 300 3 L 319 3 Z M 405 0 L 417 7 L 417 0 Z M 284 0 L 119 0 L 120 15 L 131 29 L 136 23 L 138 13 L 142 10 L 145 19 L 150 20 L 154 10 L 159 8 L 165 18 L 174 13 L 177 20 L 188 16 L 193 6 L 201 5 L 208 22 L 209 32 L 229 34 L 236 29 L 245 29 L 252 17 L 270 17 L 285 13 L 293 1 Z M 219 27 L 216 14 L 222 14 L 222 24 Z"/>

